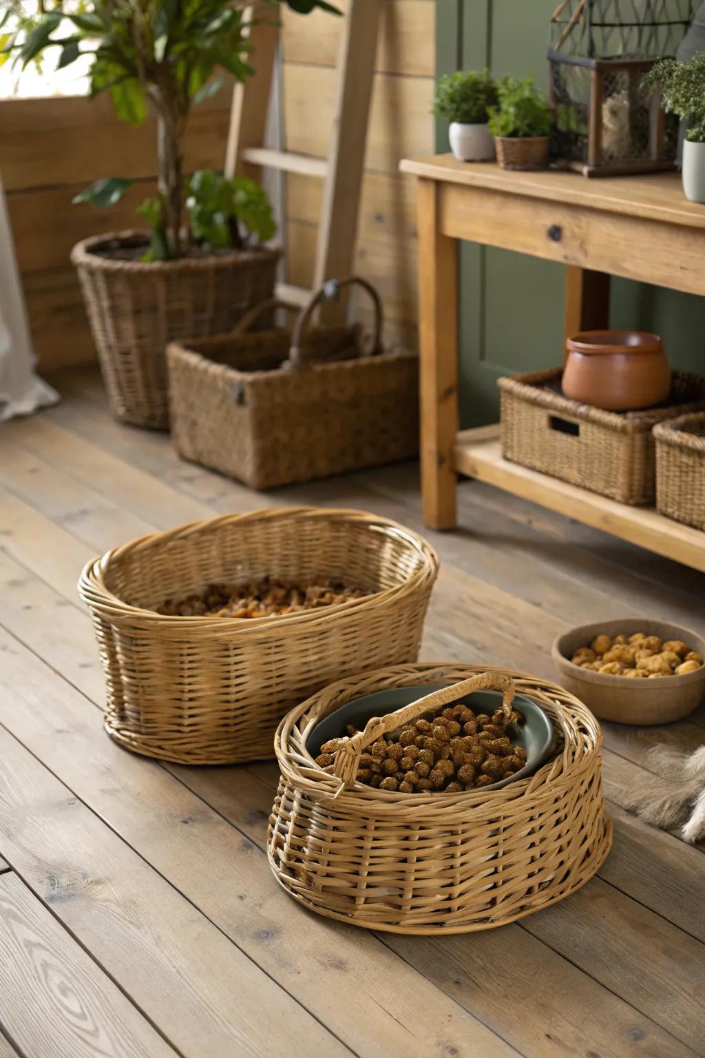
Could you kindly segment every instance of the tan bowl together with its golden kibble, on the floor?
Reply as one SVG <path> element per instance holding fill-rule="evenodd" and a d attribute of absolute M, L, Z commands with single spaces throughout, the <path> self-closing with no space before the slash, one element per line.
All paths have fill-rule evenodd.
<path fill-rule="evenodd" d="M 668 724 L 705 694 L 705 638 L 667 621 L 580 625 L 556 638 L 552 656 L 560 683 L 601 719 Z"/>

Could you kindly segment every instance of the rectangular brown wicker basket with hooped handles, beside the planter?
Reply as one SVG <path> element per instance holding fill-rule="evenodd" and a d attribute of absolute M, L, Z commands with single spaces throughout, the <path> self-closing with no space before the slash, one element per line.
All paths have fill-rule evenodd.
<path fill-rule="evenodd" d="M 309 327 L 322 291 L 292 335 L 246 331 L 280 304 L 266 302 L 231 334 L 169 346 L 171 434 L 181 456 L 271 489 L 418 453 L 419 359 L 383 350 L 379 297 L 357 278 L 333 289 L 350 282 L 375 304 L 370 354 L 358 327 Z"/>

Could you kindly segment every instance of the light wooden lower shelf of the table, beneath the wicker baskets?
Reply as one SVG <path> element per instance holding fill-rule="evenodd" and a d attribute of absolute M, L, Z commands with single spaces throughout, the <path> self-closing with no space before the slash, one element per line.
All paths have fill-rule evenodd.
<path fill-rule="evenodd" d="M 627 507 L 502 459 L 499 425 L 461 431 L 456 437 L 454 467 L 468 477 L 705 571 L 705 532 L 664 517 L 652 507 Z"/>

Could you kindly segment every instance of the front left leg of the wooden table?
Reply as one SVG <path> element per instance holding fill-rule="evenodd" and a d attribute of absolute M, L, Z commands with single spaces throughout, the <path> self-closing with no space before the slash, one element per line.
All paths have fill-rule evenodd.
<path fill-rule="evenodd" d="M 453 444 L 458 432 L 458 241 L 439 231 L 432 180 L 419 180 L 421 488 L 424 522 L 456 525 Z"/>

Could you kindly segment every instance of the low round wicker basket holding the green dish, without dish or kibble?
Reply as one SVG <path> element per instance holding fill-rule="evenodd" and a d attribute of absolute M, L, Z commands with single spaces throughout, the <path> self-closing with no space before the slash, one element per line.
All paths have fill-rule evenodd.
<path fill-rule="evenodd" d="M 548 907 L 593 876 L 612 841 L 597 722 L 555 683 L 485 669 L 415 664 L 366 673 L 326 688 L 282 720 L 268 856 L 292 896 L 312 911 L 368 929 L 468 933 Z M 398 794 L 350 786 L 352 771 L 341 760 L 350 746 L 335 761 L 345 785 L 307 751 L 316 723 L 347 701 L 391 687 L 454 683 L 474 675 L 480 676 L 478 689 L 504 688 L 507 680 L 498 676 L 514 679 L 562 736 L 562 750 L 530 778 L 487 792 Z M 384 717 L 385 728 L 411 718 L 413 708 Z M 350 740 L 357 753 L 360 738 Z"/>

